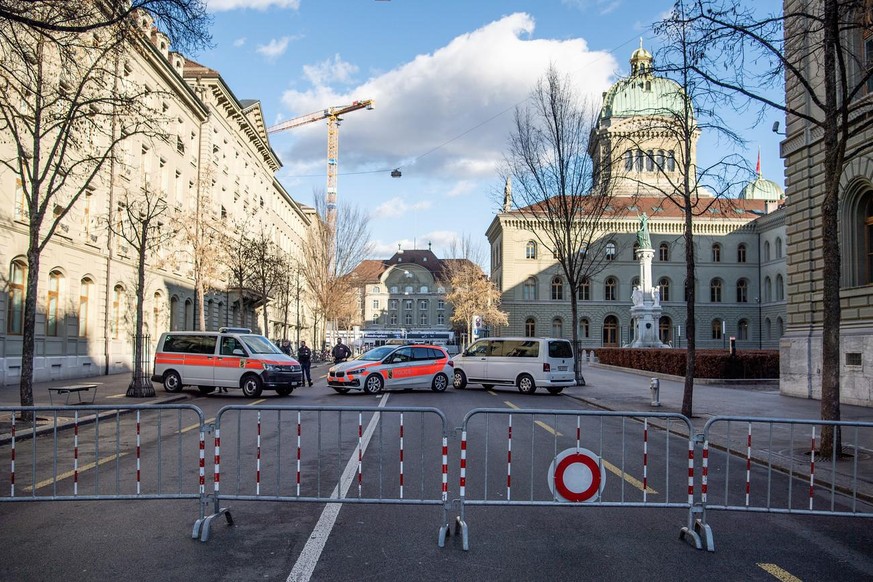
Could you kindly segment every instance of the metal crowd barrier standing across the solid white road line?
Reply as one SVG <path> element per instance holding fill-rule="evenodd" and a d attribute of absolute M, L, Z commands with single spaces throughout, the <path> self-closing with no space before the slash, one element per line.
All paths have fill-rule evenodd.
<path fill-rule="evenodd" d="M 305 501 L 442 507 L 448 527 L 448 432 L 436 408 L 226 406 L 215 417 L 212 520 L 228 501 Z M 404 463 L 417 458 L 417 463 Z"/>

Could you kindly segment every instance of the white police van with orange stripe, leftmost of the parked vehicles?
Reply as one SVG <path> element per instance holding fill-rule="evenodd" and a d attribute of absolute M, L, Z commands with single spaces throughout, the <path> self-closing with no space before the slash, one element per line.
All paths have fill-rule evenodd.
<path fill-rule="evenodd" d="M 223 327 L 217 332 L 162 333 L 152 381 L 162 383 L 167 392 L 197 386 L 202 394 L 239 388 L 249 398 L 257 398 L 265 389 L 287 396 L 303 384 L 303 370 L 264 336 Z"/>

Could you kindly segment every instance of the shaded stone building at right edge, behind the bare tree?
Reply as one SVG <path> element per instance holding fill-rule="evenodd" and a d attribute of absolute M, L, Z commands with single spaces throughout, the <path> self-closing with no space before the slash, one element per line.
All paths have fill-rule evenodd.
<path fill-rule="evenodd" d="M 806 8 L 806 3 L 786 0 L 785 12 Z M 862 26 L 844 27 L 843 46 L 854 47 L 843 55 L 849 66 L 850 86 L 859 83 L 866 63 L 873 55 L 871 7 L 858 18 Z M 804 42 L 805 34 L 786 38 Z M 797 63 L 811 86 L 824 96 L 820 51 L 794 51 L 807 55 Z M 860 65 L 859 65 L 860 64 Z M 801 111 L 820 111 L 810 104 L 811 96 L 796 80 L 786 80 L 785 98 L 790 107 Z M 873 106 L 873 82 L 868 81 L 858 95 L 850 120 L 847 151 L 853 152 L 873 140 L 873 129 L 864 120 Z M 815 113 L 813 113 L 815 114 Z M 788 233 L 788 326 L 782 340 L 781 385 L 785 394 L 821 398 L 822 352 L 822 267 L 828 257 L 821 245 L 821 208 L 824 199 L 824 141 L 821 129 L 800 117 L 786 118 L 786 137 L 782 142 L 786 186 L 791 192 L 785 209 Z M 873 155 L 861 147 L 847 160 L 840 176 L 840 400 L 847 404 L 873 406 Z"/>

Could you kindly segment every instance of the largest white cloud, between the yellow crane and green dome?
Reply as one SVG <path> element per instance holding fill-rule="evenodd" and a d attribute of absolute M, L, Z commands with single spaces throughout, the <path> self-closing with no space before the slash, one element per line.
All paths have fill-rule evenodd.
<path fill-rule="evenodd" d="M 531 16 L 511 14 L 350 90 L 318 84 L 325 78 L 313 74 L 312 88 L 288 90 L 282 101 L 288 117 L 295 117 L 354 100 L 375 100 L 374 111 L 345 116 L 341 174 L 400 167 L 404 179 L 493 179 L 506 149 L 512 112 L 524 105 L 550 64 L 575 79 L 578 91 L 595 105 L 618 68 L 612 55 L 590 51 L 582 38 L 537 39 L 534 28 Z M 330 62 L 342 63 L 338 57 Z M 324 166 L 324 128 L 313 126 L 319 124 L 295 129 L 291 140 L 283 138 L 278 151 L 286 175 L 298 174 L 291 165 Z"/>

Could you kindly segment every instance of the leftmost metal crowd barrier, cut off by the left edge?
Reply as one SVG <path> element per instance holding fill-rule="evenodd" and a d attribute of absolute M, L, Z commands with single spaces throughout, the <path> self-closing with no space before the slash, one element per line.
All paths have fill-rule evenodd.
<path fill-rule="evenodd" d="M 204 423 L 195 406 L 0 407 L 0 413 L 11 416 L 10 438 L 0 446 L 9 462 L 0 502 L 204 496 Z"/>

